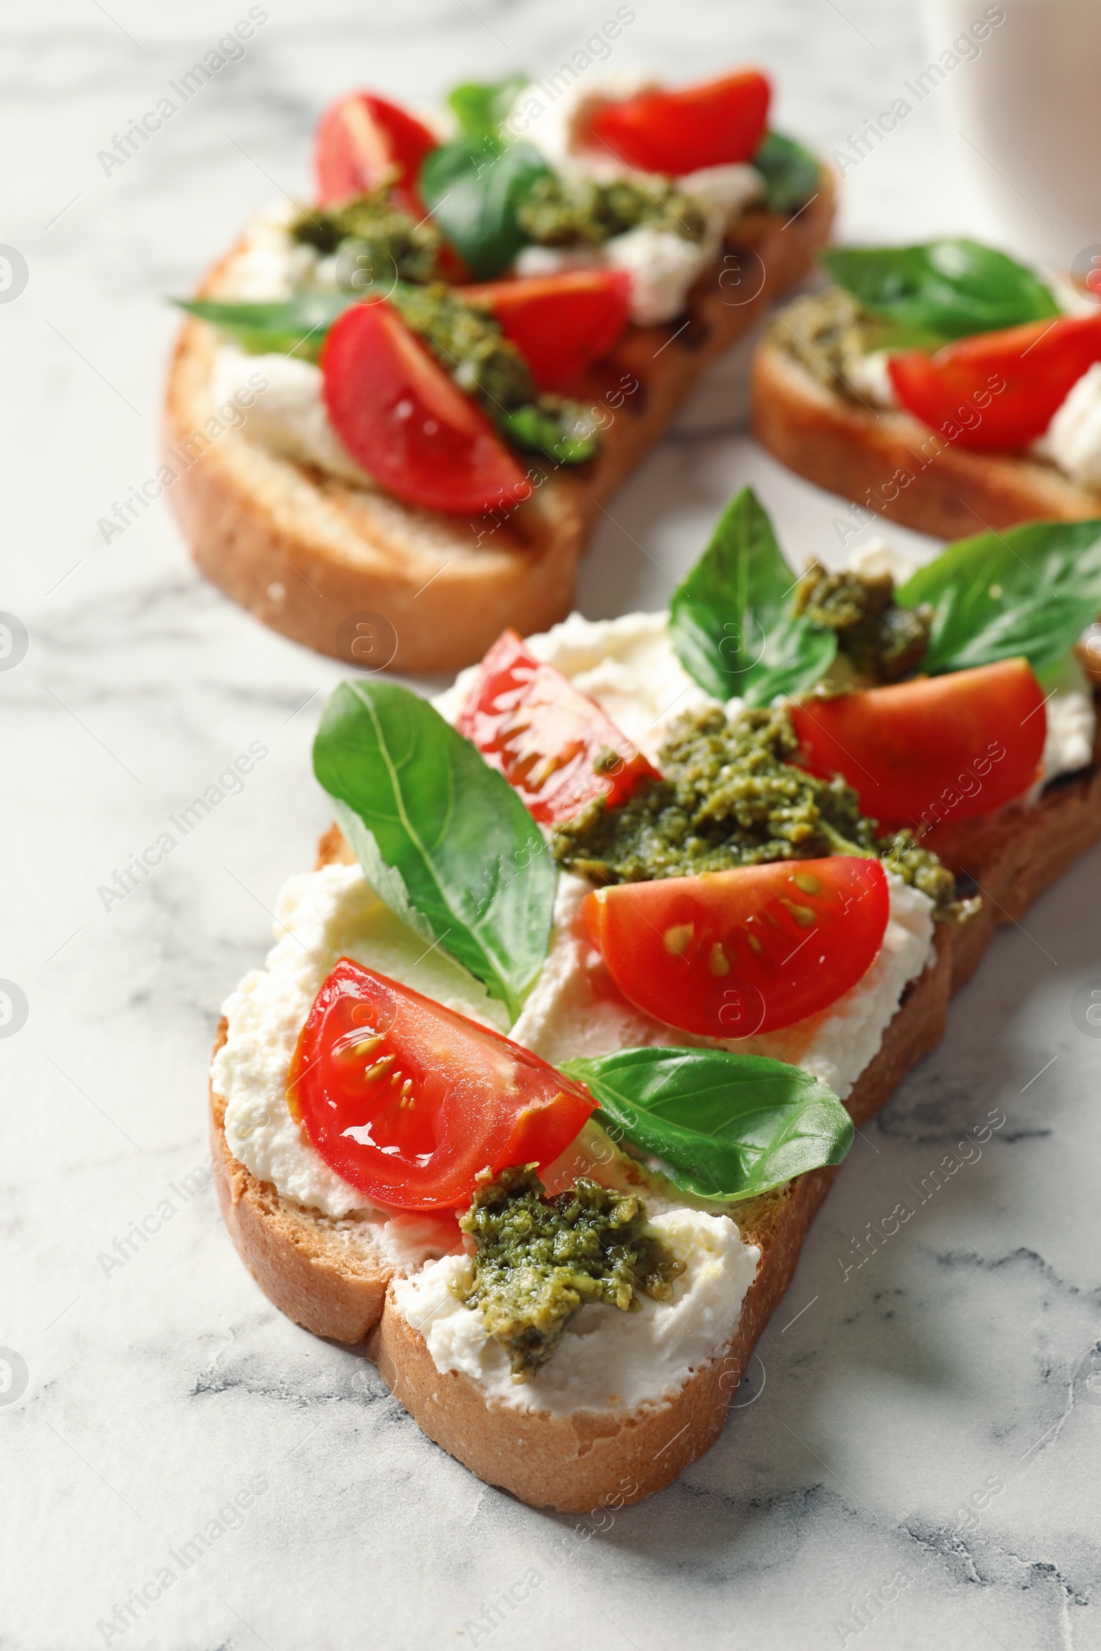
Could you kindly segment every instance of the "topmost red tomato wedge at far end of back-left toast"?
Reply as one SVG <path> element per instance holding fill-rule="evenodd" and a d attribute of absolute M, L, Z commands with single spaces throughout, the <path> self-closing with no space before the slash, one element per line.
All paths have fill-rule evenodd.
<path fill-rule="evenodd" d="M 683 177 L 749 160 L 764 137 L 769 97 L 764 76 L 743 69 L 678 92 L 640 92 L 602 104 L 586 137 L 629 167 Z"/>

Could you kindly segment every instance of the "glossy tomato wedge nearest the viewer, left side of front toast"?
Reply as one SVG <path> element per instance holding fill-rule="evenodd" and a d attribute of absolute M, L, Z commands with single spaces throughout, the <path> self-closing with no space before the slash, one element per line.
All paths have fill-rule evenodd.
<path fill-rule="evenodd" d="M 330 1169 L 406 1210 L 467 1204 L 487 1166 L 553 1162 L 594 1108 L 520 1043 L 350 958 L 314 999 L 287 1105 Z"/>

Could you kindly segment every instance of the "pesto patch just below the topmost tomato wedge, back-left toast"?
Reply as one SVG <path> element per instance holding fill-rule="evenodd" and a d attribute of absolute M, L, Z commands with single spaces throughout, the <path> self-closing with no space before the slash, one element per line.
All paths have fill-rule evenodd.
<path fill-rule="evenodd" d="M 528 239 L 540 246 L 599 244 L 639 225 L 685 241 L 698 243 L 706 234 L 700 203 L 670 183 L 645 188 L 629 180 L 596 183 L 551 175 L 536 180 L 517 218 Z"/>

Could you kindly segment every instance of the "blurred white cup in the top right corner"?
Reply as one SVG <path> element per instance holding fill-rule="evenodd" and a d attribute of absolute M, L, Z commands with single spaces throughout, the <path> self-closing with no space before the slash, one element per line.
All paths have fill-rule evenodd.
<path fill-rule="evenodd" d="M 1101 243 L 1101 0 L 924 0 L 924 23 L 931 63 L 971 43 L 938 99 L 1007 239 L 1073 264 Z"/>

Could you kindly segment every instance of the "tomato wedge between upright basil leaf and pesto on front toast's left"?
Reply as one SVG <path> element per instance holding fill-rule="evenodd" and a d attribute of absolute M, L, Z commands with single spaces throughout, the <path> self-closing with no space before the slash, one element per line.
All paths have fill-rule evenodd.
<path fill-rule="evenodd" d="M 533 659 L 515 631 L 503 631 L 482 660 L 456 726 L 545 826 L 593 797 L 616 807 L 659 778 L 599 705 Z"/>

